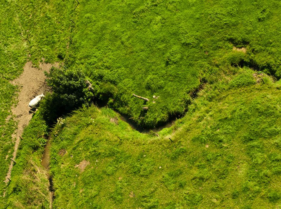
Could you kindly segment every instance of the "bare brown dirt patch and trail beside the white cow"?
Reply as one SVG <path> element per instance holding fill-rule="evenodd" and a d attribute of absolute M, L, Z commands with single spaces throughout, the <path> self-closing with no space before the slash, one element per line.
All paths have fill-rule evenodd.
<path fill-rule="evenodd" d="M 59 63 L 56 63 L 54 66 L 58 67 Z M 16 121 L 18 122 L 18 128 L 12 135 L 12 138 L 15 142 L 13 159 L 15 159 L 19 147 L 19 137 L 22 135 L 23 129 L 28 125 L 29 120 L 32 118 L 32 114 L 29 115 L 28 113 L 30 110 L 28 104 L 35 96 L 48 91 L 48 86 L 45 82 L 46 76 L 44 75 L 44 71 L 49 71 L 51 67 L 51 64 L 41 63 L 39 68 L 34 68 L 32 67 L 31 62 L 27 62 L 23 67 L 23 73 L 19 76 L 19 78 L 11 82 L 13 85 L 19 86 L 20 90 L 18 96 L 19 102 L 17 106 L 12 107 L 12 114 L 16 116 Z M 13 162 L 11 161 L 7 176 L 4 181 L 6 184 L 9 182 L 8 178 L 11 178 L 12 167 Z"/>

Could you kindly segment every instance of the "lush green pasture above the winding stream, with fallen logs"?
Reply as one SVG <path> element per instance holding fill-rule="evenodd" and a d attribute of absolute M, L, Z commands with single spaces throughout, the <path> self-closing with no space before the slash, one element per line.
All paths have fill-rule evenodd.
<path fill-rule="evenodd" d="M 213 82 L 221 67 L 280 77 L 279 7 L 274 0 L 82 1 L 66 63 L 85 70 L 97 98 L 154 126 L 186 111 L 189 93 Z"/>

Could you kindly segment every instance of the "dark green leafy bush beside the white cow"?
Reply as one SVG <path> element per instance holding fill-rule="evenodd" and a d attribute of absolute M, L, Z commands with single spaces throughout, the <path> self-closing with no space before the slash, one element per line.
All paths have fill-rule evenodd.
<path fill-rule="evenodd" d="M 85 74 L 77 69 L 52 68 L 46 73 L 47 84 L 53 93 L 48 93 L 40 105 L 43 118 L 51 124 L 59 116 L 87 104 L 93 94 L 88 91 Z"/>

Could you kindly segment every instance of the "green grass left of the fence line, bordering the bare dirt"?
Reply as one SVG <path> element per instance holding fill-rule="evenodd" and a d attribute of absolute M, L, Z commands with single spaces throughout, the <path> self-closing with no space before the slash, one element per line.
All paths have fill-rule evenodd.
<path fill-rule="evenodd" d="M 13 146 L 15 121 L 11 106 L 16 103 L 16 88 L 10 80 L 22 72 L 27 60 L 38 64 L 63 59 L 70 33 L 70 18 L 75 1 L 3 1 L 0 6 L 0 196 L 6 187 Z M 63 8 L 63 9 L 62 9 Z M 30 55 L 30 56 L 29 56 Z M 1 197 L 0 197 L 1 199 Z M 2 204 L 2 203 L 1 203 Z"/>

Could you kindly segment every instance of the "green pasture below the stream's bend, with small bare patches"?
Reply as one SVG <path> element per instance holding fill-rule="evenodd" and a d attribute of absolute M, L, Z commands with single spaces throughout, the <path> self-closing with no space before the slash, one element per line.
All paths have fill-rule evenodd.
<path fill-rule="evenodd" d="M 281 86 L 252 73 L 206 85 L 159 137 L 108 108 L 67 117 L 52 133 L 53 208 L 278 208 Z"/>

